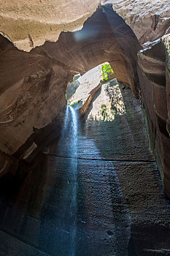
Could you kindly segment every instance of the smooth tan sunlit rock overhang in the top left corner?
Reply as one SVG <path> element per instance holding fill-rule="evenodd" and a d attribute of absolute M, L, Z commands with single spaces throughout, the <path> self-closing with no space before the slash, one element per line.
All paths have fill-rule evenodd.
<path fill-rule="evenodd" d="M 0 1 L 0 31 L 19 49 L 29 51 L 61 31 L 75 31 L 98 7 L 99 0 Z"/>

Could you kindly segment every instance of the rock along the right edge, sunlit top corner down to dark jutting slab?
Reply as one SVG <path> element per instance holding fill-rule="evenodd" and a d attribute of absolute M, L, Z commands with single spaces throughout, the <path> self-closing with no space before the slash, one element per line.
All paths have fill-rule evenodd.
<path fill-rule="evenodd" d="M 164 188 L 170 195 L 169 159 L 169 1 L 102 1 L 112 3 L 147 49 L 139 53 L 138 74 L 150 141 L 161 171 Z"/>

